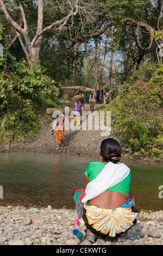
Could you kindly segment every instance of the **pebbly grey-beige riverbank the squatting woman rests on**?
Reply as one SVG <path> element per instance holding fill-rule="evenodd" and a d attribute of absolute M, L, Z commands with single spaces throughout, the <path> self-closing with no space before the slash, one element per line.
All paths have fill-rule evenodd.
<path fill-rule="evenodd" d="M 143 212 L 126 236 L 81 241 L 73 235 L 77 214 L 74 210 L 0 206 L 0 245 L 163 245 L 163 211 Z M 85 227 L 82 228 L 84 230 Z"/>

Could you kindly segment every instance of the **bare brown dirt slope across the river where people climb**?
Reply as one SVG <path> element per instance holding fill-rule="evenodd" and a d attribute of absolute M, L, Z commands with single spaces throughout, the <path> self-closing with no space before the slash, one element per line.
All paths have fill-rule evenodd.
<path fill-rule="evenodd" d="M 69 102 L 70 103 L 70 102 Z M 65 102 L 67 106 L 67 102 Z M 99 105 L 95 106 L 95 110 Z M 73 110 L 70 107 L 70 112 Z M 90 105 L 84 105 L 84 111 L 90 111 Z M 94 119 L 93 119 L 94 120 Z M 88 125 L 88 120 L 87 120 Z M 95 130 L 93 123 L 93 130 L 76 130 L 65 131 L 64 147 L 57 148 L 57 142 L 51 135 L 52 123 L 46 124 L 38 135 L 33 138 L 33 141 L 26 143 L 12 143 L 9 147 L 9 152 L 37 152 L 37 153 L 51 153 L 51 154 L 68 154 L 80 156 L 99 156 L 100 145 L 103 139 L 108 138 L 101 136 L 101 130 Z M 7 145 L 0 145 L 0 151 Z M 5 150 L 7 151 L 7 150 Z M 126 156 L 126 154 L 125 154 Z"/>

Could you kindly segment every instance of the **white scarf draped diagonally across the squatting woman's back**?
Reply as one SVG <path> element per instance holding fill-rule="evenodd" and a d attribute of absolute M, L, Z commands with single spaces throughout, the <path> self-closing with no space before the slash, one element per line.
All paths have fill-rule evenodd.
<path fill-rule="evenodd" d="M 86 195 L 82 199 L 82 203 L 86 203 L 108 190 L 108 188 L 120 183 L 129 173 L 130 169 L 124 163 L 107 163 L 96 179 L 87 184 L 85 188 Z"/>

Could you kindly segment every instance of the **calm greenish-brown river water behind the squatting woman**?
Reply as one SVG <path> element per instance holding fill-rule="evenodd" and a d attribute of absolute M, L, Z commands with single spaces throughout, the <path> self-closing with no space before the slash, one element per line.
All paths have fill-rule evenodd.
<path fill-rule="evenodd" d="M 1 153 L 0 205 L 75 209 L 74 191 L 82 188 L 84 173 L 96 157 L 42 153 Z M 140 210 L 162 210 L 162 164 L 121 161 L 131 170 L 131 190 Z M 163 195 L 163 192 L 162 192 Z"/>

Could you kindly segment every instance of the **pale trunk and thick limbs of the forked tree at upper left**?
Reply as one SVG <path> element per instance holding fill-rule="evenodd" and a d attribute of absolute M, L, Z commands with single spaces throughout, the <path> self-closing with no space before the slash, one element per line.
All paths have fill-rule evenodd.
<path fill-rule="evenodd" d="M 74 1 L 74 6 L 71 6 L 71 11 L 67 16 L 65 16 L 63 19 L 59 21 L 55 21 L 52 23 L 52 25 L 49 25 L 46 28 L 43 28 L 43 7 L 44 7 L 44 0 L 39 0 L 38 4 L 38 17 L 37 17 L 37 31 L 36 35 L 34 36 L 33 40 L 30 41 L 29 35 L 28 35 L 28 25 L 26 20 L 26 15 L 23 10 L 23 6 L 21 1 L 19 2 L 19 7 L 22 15 L 22 20 L 24 23 L 24 28 L 18 25 L 11 16 L 9 15 L 7 9 L 5 8 L 3 0 L 0 0 L 0 5 L 3 10 L 3 13 L 5 14 L 8 22 L 14 28 L 18 39 L 20 40 L 20 44 L 23 48 L 24 53 L 26 54 L 26 58 L 28 60 L 29 66 L 32 68 L 37 60 L 40 59 L 40 51 L 41 51 L 41 44 L 42 44 L 42 35 L 43 33 L 50 31 L 55 26 L 60 26 L 60 29 L 64 24 L 67 22 L 70 17 L 75 16 L 79 11 L 79 0 Z M 22 36 L 24 38 L 24 41 L 22 40 Z"/>

